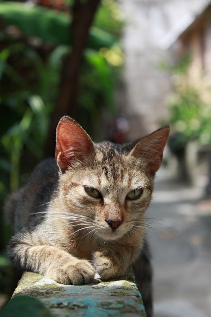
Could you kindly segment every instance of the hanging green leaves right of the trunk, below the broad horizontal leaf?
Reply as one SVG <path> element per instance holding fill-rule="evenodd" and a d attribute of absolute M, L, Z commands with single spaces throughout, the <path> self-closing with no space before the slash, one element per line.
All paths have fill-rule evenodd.
<path fill-rule="evenodd" d="M 78 98 L 79 122 L 95 141 L 101 141 L 101 112 L 107 110 L 110 116 L 116 114 L 114 101 L 115 71 L 106 58 L 94 50 L 86 49 L 81 68 Z"/>

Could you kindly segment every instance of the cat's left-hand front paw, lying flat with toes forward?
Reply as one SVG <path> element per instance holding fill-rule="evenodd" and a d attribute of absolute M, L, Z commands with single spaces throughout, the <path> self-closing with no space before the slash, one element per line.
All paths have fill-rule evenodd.
<path fill-rule="evenodd" d="M 66 263 L 51 272 L 51 277 L 57 283 L 81 285 L 88 284 L 93 280 L 95 269 L 86 260 L 79 260 L 74 263 Z"/>

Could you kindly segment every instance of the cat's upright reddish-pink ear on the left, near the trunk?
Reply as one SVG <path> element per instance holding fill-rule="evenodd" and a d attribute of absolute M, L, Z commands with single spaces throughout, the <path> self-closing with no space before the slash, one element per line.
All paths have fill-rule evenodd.
<path fill-rule="evenodd" d="M 83 161 L 94 153 L 94 144 L 84 129 L 69 116 L 63 116 L 56 128 L 56 161 L 64 173 L 73 159 Z"/>

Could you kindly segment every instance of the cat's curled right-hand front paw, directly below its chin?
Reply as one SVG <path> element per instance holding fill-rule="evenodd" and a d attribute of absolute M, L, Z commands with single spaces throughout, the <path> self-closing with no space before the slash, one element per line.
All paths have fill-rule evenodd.
<path fill-rule="evenodd" d="M 125 273 L 125 268 L 119 261 L 115 261 L 112 257 L 109 257 L 107 253 L 104 254 L 101 251 L 94 253 L 93 265 L 103 280 L 117 278 Z"/>

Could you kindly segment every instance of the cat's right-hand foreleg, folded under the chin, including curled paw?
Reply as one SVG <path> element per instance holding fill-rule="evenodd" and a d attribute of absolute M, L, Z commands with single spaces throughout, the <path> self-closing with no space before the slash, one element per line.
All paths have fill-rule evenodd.
<path fill-rule="evenodd" d="M 104 247 L 93 254 L 93 265 L 104 280 L 123 276 L 137 258 L 139 249 L 126 246 Z"/>

